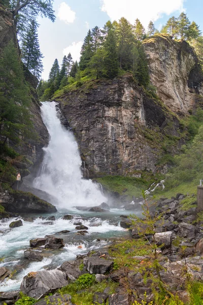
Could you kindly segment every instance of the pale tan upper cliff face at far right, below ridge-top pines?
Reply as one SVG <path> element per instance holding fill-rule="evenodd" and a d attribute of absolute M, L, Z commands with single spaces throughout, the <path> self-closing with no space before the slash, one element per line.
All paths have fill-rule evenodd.
<path fill-rule="evenodd" d="M 203 77 L 193 48 L 168 35 L 146 39 L 144 47 L 157 95 L 170 110 L 188 113 L 196 103 L 196 94 L 203 93 Z"/>

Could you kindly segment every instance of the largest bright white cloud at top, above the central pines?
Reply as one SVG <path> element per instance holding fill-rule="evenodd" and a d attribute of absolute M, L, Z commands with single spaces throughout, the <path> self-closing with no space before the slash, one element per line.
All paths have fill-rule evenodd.
<path fill-rule="evenodd" d="M 185 0 L 101 0 L 101 10 L 107 12 L 111 20 L 119 20 L 125 17 L 131 23 L 139 18 L 145 27 L 150 20 L 156 21 L 163 14 L 170 15 L 173 12 L 184 10 Z"/>

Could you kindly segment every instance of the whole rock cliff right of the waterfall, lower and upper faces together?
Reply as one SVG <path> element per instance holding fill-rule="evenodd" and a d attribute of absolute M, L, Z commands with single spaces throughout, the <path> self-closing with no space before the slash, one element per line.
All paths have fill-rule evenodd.
<path fill-rule="evenodd" d="M 203 101 L 198 60 L 186 42 L 159 35 L 144 47 L 156 94 L 128 73 L 56 97 L 78 140 L 86 177 L 165 172 L 185 141 L 180 118 Z"/>

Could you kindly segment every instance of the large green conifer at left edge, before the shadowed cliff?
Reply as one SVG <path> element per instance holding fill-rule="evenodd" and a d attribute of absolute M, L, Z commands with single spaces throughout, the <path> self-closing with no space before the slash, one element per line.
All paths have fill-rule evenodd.
<path fill-rule="evenodd" d="M 19 142 L 18 133 L 25 136 L 31 129 L 29 87 L 13 41 L 1 54 L 0 71 L 0 139 L 5 146 L 8 138 Z"/>

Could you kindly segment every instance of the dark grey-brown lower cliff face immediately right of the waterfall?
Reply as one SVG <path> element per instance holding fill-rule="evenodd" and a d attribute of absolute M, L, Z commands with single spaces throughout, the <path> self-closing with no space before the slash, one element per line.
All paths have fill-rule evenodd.
<path fill-rule="evenodd" d="M 59 101 L 78 140 L 85 176 L 155 172 L 165 134 L 179 136 L 177 118 L 147 97 L 130 74 L 95 81 Z"/>

